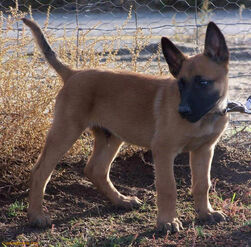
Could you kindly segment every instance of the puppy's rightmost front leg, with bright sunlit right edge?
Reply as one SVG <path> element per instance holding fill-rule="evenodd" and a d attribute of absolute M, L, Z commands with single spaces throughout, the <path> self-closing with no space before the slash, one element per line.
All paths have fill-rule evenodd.
<path fill-rule="evenodd" d="M 225 220 L 224 214 L 221 211 L 213 210 L 209 202 L 210 170 L 213 154 L 214 145 L 202 146 L 190 152 L 192 194 L 195 201 L 195 209 L 200 220 L 209 223 Z"/>

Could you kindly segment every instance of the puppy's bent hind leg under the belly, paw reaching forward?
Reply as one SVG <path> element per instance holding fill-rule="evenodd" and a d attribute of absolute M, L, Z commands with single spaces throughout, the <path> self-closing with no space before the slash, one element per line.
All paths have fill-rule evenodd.
<path fill-rule="evenodd" d="M 137 197 L 119 193 L 109 178 L 111 164 L 122 144 L 121 139 L 103 128 L 95 127 L 93 133 L 94 149 L 84 169 L 85 175 L 116 206 L 128 208 L 139 205 L 140 200 Z"/>

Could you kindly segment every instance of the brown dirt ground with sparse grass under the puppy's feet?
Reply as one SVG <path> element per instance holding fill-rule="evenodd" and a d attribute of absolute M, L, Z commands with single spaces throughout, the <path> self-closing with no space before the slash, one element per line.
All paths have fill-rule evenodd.
<path fill-rule="evenodd" d="M 216 148 L 210 200 L 214 208 L 223 209 L 227 215 L 225 222 L 202 225 L 195 218 L 188 155 L 182 154 L 175 160 L 175 177 L 177 211 L 184 230 L 173 235 L 158 232 L 151 153 L 128 148 L 115 160 L 111 179 L 119 191 L 138 196 L 143 201 L 140 208 L 125 210 L 112 206 L 84 177 L 87 157 L 83 157 L 78 163 L 57 166 L 44 203 L 53 225 L 42 230 L 31 228 L 26 218 L 30 167 L 18 162 L 8 169 L 0 167 L 0 243 L 2 246 L 5 246 L 3 241 L 23 241 L 26 245 L 22 246 L 29 246 L 29 241 L 39 246 L 251 246 L 248 136 L 250 133 L 239 132 L 222 140 Z M 17 202 L 19 206 L 13 209 Z M 17 246 L 17 242 L 11 243 L 6 246 Z"/>

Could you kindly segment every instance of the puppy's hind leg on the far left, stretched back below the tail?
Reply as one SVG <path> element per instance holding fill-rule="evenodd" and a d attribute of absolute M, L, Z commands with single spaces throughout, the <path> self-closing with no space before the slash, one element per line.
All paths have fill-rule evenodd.
<path fill-rule="evenodd" d="M 49 216 L 45 215 L 42 210 L 46 185 L 57 162 L 81 133 L 82 128 L 76 119 L 66 118 L 64 114 L 57 114 L 48 133 L 44 149 L 32 170 L 28 218 L 33 226 L 50 225 Z"/>

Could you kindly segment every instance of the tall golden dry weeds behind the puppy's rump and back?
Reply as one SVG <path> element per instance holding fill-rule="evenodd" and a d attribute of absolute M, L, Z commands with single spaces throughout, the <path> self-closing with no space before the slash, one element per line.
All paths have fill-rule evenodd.
<path fill-rule="evenodd" d="M 10 162 L 34 161 L 44 143 L 47 130 L 53 117 L 55 96 L 61 88 L 61 82 L 54 71 L 48 69 L 40 51 L 32 40 L 31 33 L 21 26 L 18 39 L 13 28 L 25 13 L 10 9 L 8 17 L 0 14 L 0 159 L 2 164 Z M 29 13 L 32 18 L 32 13 Z M 127 20 L 117 33 L 107 37 L 90 37 L 91 31 L 75 30 L 71 35 L 64 32 L 56 37 L 48 31 L 49 11 L 44 23 L 44 32 L 59 57 L 72 67 L 79 68 L 112 68 L 132 71 L 149 71 L 153 59 L 160 61 L 159 52 L 153 54 L 146 62 L 138 63 L 140 52 L 149 44 L 151 33 L 143 34 L 138 28 L 131 38 L 132 46 L 121 47 L 121 32 L 131 18 L 131 10 Z M 6 24 L 4 30 L 4 23 Z M 97 23 L 98 25 L 99 23 Z M 19 23 L 20 28 L 20 23 Z M 78 40 L 77 40 L 78 37 Z M 128 38 L 128 37 L 127 37 Z M 102 51 L 97 52 L 97 47 Z M 118 51 L 125 48 L 130 51 L 130 61 L 118 62 Z M 163 68 L 160 62 L 159 71 Z M 76 157 L 90 152 L 90 138 L 84 134 L 69 151 L 67 157 Z"/>

